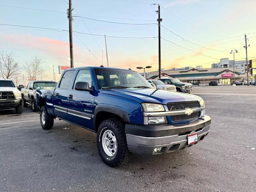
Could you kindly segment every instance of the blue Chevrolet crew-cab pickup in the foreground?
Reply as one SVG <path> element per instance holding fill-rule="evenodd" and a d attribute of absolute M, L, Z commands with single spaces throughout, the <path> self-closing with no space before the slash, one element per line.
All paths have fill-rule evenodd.
<path fill-rule="evenodd" d="M 128 162 L 132 153 L 190 147 L 210 132 L 202 98 L 154 89 L 132 70 L 67 69 L 56 88 L 37 90 L 36 101 L 44 130 L 60 118 L 96 132 L 100 157 L 112 167 Z"/>

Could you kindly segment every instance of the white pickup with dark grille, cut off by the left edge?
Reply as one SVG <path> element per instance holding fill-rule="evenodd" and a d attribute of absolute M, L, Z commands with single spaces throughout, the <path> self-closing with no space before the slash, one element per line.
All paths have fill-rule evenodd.
<path fill-rule="evenodd" d="M 15 109 L 22 114 L 21 92 L 12 80 L 0 80 L 0 110 Z"/>

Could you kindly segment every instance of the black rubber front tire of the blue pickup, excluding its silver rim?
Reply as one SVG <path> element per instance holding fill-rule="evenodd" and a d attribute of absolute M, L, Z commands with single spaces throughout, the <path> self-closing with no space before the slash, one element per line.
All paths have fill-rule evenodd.
<path fill-rule="evenodd" d="M 117 141 L 117 150 L 114 156 L 108 156 L 102 146 L 102 135 L 106 130 L 111 130 Z M 110 118 L 101 122 L 97 132 L 98 151 L 102 161 L 110 166 L 122 166 L 130 160 L 131 152 L 127 148 L 124 123 L 116 118 Z"/>

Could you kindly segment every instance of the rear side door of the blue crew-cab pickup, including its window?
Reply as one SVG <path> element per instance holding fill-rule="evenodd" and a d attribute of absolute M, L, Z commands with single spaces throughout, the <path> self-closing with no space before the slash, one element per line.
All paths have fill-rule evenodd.
<path fill-rule="evenodd" d="M 64 120 L 68 120 L 68 92 L 70 90 L 71 82 L 74 76 L 75 70 L 65 71 L 58 87 L 54 90 L 53 104 L 54 114 Z"/>

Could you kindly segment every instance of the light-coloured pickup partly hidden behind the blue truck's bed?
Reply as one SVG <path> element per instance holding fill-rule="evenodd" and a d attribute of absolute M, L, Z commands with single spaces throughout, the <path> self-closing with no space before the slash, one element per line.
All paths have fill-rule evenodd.
<path fill-rule="evenodd" d="M 54 81 L 30 81 L 26 88 L 21 89 L 23 106 L 31 105 L 33 112 L 37 112 L 36 106 L 36 89 L 38 87 L 56 87 L 57 82 Z"/>

